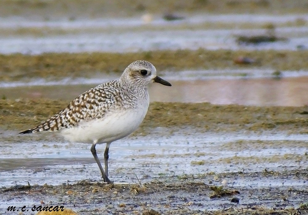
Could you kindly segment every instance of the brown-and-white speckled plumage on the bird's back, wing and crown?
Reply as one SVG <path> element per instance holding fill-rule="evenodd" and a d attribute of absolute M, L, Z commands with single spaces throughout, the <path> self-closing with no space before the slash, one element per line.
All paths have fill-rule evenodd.
<path fill-rule="evenodd" d="M 148 61 L 134 61 L 131 66 L 140 66 L 140 62 L 147 68 L 152 67 L 152 64 Z M 123 73 L 122 79 L 125 76 L 126 74 Z M 128 78 L 131 78 L 131 76 Z M 100 84 L 79 95 L 65 109 L 37 127 L 26 131 L 27 133 L 57 131 L 61 128 L 78 126 L 80 121 L 83 120 L 100 119 L 104 117 L 107 111 L 137 108 L 140 98 L 148 99 L 148 90 L 144 88 L 146 86 L 138 83 L 128 86 L 125 81 L 120 80 Z"/>

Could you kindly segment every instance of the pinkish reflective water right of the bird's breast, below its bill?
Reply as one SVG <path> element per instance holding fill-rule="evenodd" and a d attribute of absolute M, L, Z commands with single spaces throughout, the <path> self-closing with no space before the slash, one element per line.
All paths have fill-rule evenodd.
<path fill-rule="evenodd" d="M 302 106 L 308 104 L 308 78 L 197 80 L 172 83 L 168 93 L 157 86 L 152 99 L 213 104 Z M 155 91 L 156 93 L 153 93 Z M 157 93 L 160 93 L 159 95 Z"/>

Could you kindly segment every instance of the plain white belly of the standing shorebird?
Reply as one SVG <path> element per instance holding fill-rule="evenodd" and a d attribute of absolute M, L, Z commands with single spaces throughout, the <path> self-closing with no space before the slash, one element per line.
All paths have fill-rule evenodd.
<path fill-rule="evenodd" d="M 61 134 L 71 142 L 112 142 L 135 131 L 144 119 L 147 109 L 128 109 L 108 113 L 101 119 L 83 121 L 77 127 L 63 129 Z"/>

